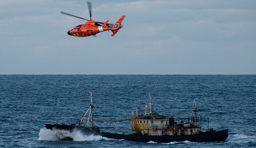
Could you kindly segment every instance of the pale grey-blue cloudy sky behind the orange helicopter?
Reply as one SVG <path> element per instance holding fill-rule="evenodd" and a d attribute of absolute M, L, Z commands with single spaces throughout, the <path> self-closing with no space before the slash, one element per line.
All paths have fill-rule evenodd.
<path fill-rule="evenodd" d="M 1 0 L 0 74 L 256 74 L 256 0 Z"/>

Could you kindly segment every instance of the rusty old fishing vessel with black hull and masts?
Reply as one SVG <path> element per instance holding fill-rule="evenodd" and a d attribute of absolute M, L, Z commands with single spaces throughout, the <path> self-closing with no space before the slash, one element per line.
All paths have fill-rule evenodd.
<path fill-rule="evenodd" d="M 201 131 L 201 117 L 197 116 L 196 100 L 194 100 L 191 109 L 191 115 L 188 118 L 168 118 L 166 115 L 160 115 L 152 112 L 152 99 L 149 94 L 149 113 L 147 106 L 145 114 L 136 113 L 128 120 L 130 121 L 133 134 L 115 134 L 111 132 L 100 132 L 98 127 L 93 126 L 92 116 L 92 93 L 90 92 L 91 103 L 89 109 L 85 113 L 81 113 L 81 119 L 78 125 L 71 124 L 45 124 L 50 130 L 67 130 L 73 132 L 79 130 L 85 135 L 100 135 L 110 139 L 125 139 L 130 141 L 154 141 L 159 143 L 169 143 L 172 141 L 191 141 L 191 142 L 207 142 L 207 141 L 225 141 L 228 137 L 228 129 L 216 131 L 212 128 L 205 132 Z M 89 112 L 89 113 L 88 113 Z M 87 113 L 89 114 L 88 116 Z M 176 120 L 176 121 L 175 121 Z M 178 122 L 177 122 L 178 120 Z M 87 125 L 85 124 L 87 121 Z M 89 121 L 91 128 L 88 127 Z M 209 121 L 209 120 L 208 120 Z M 59 140 L 73 140 L 70 136 L 65 136 L 63 133 L 56 135 Z"/>

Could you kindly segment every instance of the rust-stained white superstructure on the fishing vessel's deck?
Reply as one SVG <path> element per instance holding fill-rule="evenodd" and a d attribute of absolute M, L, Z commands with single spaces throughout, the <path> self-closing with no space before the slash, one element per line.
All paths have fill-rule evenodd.
<path fill-rule="evenodd" d="M 196 135 L 201 131 L 201 118 L 197 116 L 196 100 L 191 109 L 192 116 L 189 118 L 179 118 L 180 123 L 174 118 L 166 115 L 152 113 L 152 99 L 149 94 L 150 112 L 145 114 L 132 115 L 129 119 L 131 129 L 135 135 L 143 136 L 164 136 L 164 135 Z M 195 116 L 194 116 L 195 114 Z M 186 121 L 184 123 L 184 120 Z"/>

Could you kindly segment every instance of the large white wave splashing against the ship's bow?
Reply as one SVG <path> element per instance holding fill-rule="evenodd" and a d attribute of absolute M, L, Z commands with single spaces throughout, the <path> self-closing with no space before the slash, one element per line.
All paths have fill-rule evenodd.
<path fill-rule="evenodd" d="M 65 137 L 70 137 L 73 141 L 100 141 L 100 140 L 111 140 L 99 135 L 84 135 L 79 130 L 69 132 L 67 130 L 49 130 L 42 128 L 38 134 L 38 140 L 45 141 L 58 141 L 58 139 L 63 139 Z"/>

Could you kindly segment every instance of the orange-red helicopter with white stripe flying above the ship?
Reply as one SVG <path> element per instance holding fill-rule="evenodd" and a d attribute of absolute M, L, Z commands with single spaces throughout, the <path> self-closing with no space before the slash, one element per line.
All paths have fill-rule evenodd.
<path fill-rule="evenodd" d="M 66 12 L 62 12 L 62 11 L 60 12 L 61 14 L 65 14 L 65 15 L 68 15 L 68 16 L 73 16 L 73 17 L 76 17 L 76 18 L 81 18 L 83 20 L 88 21 L 85 24 L 77 25 L 72 30 L 69 30 L 67 32 L 68 35 L 72 35 L 72 36 L 75 36 L 75 37 L 88 37 L 88 36 L 92 35 L 92 36 L 96 37 L 97 33 L 107 31 L 107 30 L 108 31 L 111 30 L 113 32 L 113 34 L 111 36 L 114 37 L 114 35 L 116 35 L 118 30 L 122 28 L 121 22 L 123 21 L 123 19 L 126 16 L 122 16 L 114 24 L 109 23 L 109 21 L 106 21 L 105 23 L 98 22 L 98 21 L 93 21 L 92 20 L 92 3 L 87 2 L 87 5 L 88 5 L 88 9 L 89 9 L 89 14 L 90 14 L 90 20 L 85 19 L 85 18 L 81 18 L 81 17 L 78 17 L 78 16 L 74 16 L 74 15 L 68 14 Z"/>

